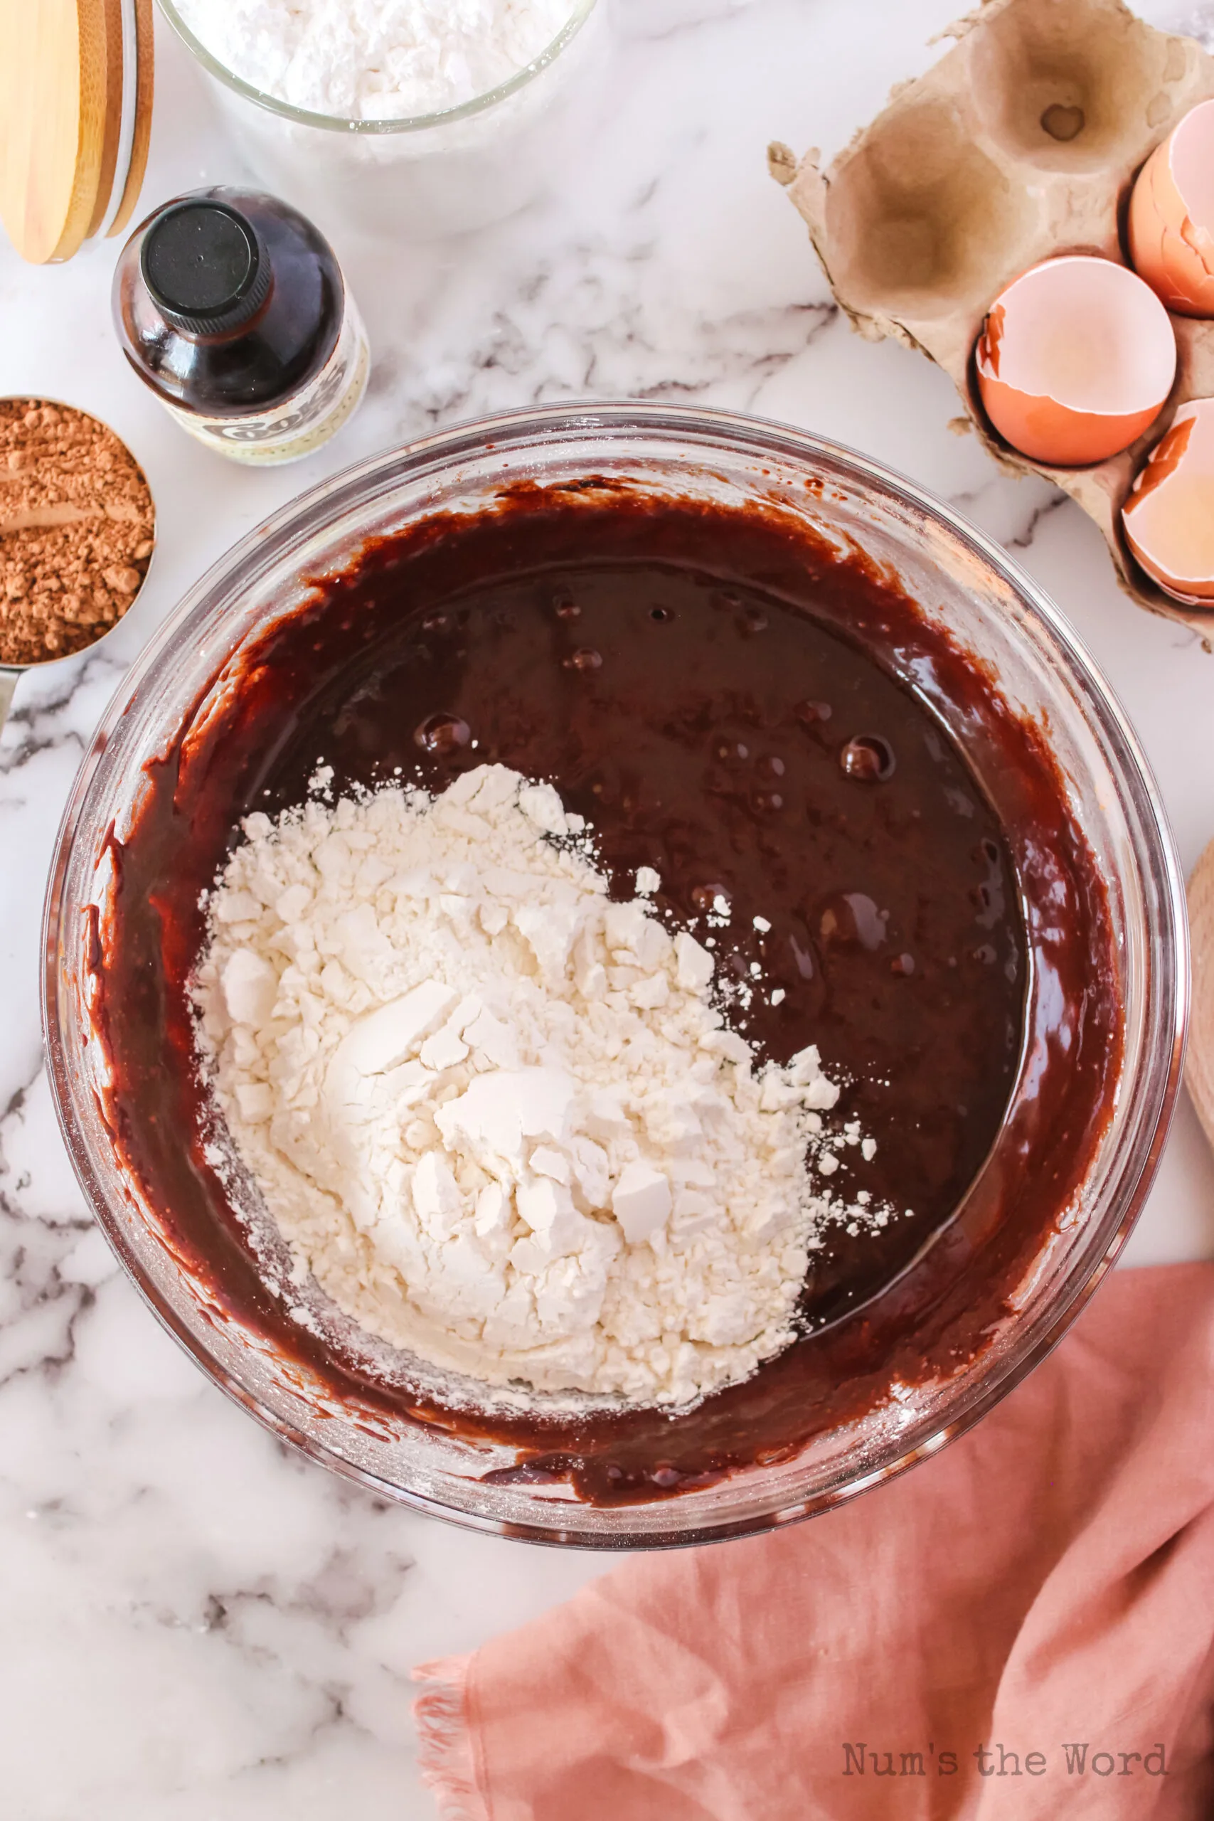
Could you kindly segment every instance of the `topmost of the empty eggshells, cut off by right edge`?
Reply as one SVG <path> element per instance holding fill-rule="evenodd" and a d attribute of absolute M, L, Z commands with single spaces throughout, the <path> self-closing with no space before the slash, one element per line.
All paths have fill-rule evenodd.
<path fill-rule="evenodd" d="M 1214 102 L 1190 107 L 1138 173 L 1130 259 L 1168 310 L 1214 317 Z"/>

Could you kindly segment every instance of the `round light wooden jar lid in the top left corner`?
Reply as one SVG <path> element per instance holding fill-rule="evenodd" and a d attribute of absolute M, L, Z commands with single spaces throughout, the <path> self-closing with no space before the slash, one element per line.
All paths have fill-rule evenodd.
<path fill-rule="evenodd" d="M 0 217 L 22 259 L 71 259 L 129 222 L 151 31 L 151 0 L 0 0 Z"/>

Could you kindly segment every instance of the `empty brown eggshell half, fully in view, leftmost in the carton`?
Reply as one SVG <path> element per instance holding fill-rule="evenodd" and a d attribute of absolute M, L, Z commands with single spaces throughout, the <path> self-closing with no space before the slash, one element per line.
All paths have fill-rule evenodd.
<path fill-rule="evenodd" d="M 1154 422 L 1176 377 L 1168 313 L 1127 266 L 1047 259 L 990 306 L 977 390 L 1001 437 L 1047 466 L 1107 461 Z"/>

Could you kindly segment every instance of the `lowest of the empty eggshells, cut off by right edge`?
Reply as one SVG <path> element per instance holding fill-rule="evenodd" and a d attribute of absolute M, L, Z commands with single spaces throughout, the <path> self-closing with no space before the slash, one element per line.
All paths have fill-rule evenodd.
<path fill-rule="evenodd" d="M 1214 606 L 1214 399 L 1181 404 L 1134 481 L 1121 524 L 1167 594 Z"/>

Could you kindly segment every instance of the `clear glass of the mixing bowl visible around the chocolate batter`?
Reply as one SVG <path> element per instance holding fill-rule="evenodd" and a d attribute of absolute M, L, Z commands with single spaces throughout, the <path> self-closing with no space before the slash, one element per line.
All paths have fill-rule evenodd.
<path fill-rule="evenodd" d="M 218 1306 L 115 1149 L 89 954 L 91 907 L 106 903 L 111 881 L 109 830 L 122 838 L 129 827 L 144 763 L 207 714 L 224 665 L 302 597 L 302 575 L 340 570 L 368 537 L 417 517 L 475 510 L 504 483 L 568 486 L 588 473 L 681 497 L 777 501 L 886 563 L 925 615 L 981 657 L 1007 701 L 1047 732 L 1107 880 L 1125 1018 L 1118 1091 L 1079 1195 L 1057 1209 L 977 1358 L 945 1380 L 895 1384 L 863 1420 L 821 1433 L 795 1459 L 626 1508 L 582 1504 L 564 1484 L 486 1482 L 513 1464 L 511 1450 L 337 1402 Z M 932 697 L 930 674 L 910 681 Z M 965 745 L 965 728 L 956 732 Z M 997 809 L 1007 783 L 976 765 Z M 1034 976 L 1030 1003 L 1043 991 Z M 237 544 L 109 705 L 67 805 L 46 907 L 44 1016 L 60 1124 L 102 1229 L 164 1326 L 268 1428 L 380 1495 L 479 1530 L 599 1548 L 704 1542 L 825 1511 L 961 1435 L 1017 1384 L 1074 1320 L 1143 1206 L 1179 1082 L 1187 991 L 1183 883 L 1158 790 L 1112 692 L 1047 595 L 956 512 L 863 455 L 781 424 L 639 404 L 550 406 L 444 432 L 349 468 Z M 1032 1093 L 1027 1062 L 1012 1105 Z M 997 1171 L 999 1144 L 983 1175 Z"/>

